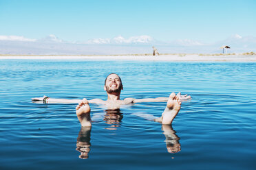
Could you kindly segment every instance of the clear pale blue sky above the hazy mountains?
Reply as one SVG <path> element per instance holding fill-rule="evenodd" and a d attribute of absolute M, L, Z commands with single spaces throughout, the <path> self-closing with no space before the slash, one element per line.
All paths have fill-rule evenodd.
<path fill-rule="evenodd" d="M 256 36 L 256 1 L 0 0 L 0 35 L 85 41 L 148 35 L 213 42 Z"/>

